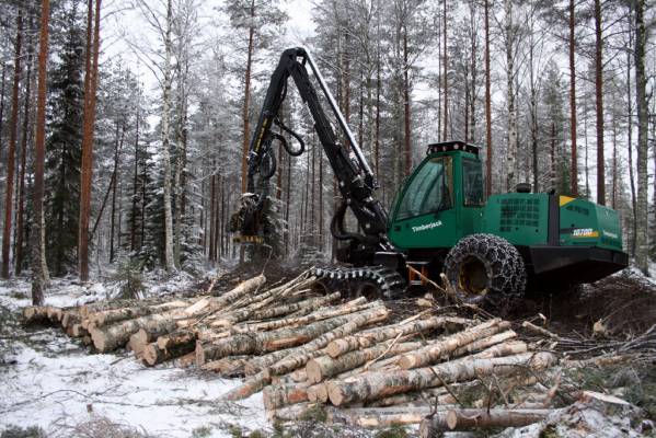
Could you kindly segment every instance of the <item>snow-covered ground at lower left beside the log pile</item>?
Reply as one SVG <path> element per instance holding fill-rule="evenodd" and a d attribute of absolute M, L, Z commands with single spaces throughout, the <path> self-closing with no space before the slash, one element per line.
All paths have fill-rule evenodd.
<path fill-rule="evenodd" d="M 46 302 L 72 306 L 106 293 L 101 284 L 59 281 Z M 30 304 L 28 297 L 26 281 L 0 283 L 0 433 L 39 426 L 48 437 L 69 437 L 99 418 L 154 437 L 227 437 L 230 425 L 267 428 L 261 394 L 239 404 L 220 400 L 238 380 L 146 368 L 127 353 L 90 355 L 58 328 L 22 327 L 19 309 Z"/>

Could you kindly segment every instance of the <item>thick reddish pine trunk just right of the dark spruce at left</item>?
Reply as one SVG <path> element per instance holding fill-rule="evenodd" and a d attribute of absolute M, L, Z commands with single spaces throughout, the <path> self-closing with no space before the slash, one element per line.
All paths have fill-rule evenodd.
<path fill-rule="evenodd" d="M 92 0 L 89 0 L 87 24 L 91 26 Z M 101 0 L 95 0 L 95 16 L 93 25 L 93 42 L 91 31 L 87 31 L 87 67 L 84 74 L 84 115 L 82 128 L 82 168 L 80 172 L 80 224 L 78 230 L 78 257 L 80 280 L 89 280 L 89 219 L 91 216 L 91 181 L 93 174 L 93 132 L 95 125 L 95 101 L 99 77 L 100 55 L 100 13 Z M 93 61 L 90 64 L 90 50 L 93 50 Z"/>

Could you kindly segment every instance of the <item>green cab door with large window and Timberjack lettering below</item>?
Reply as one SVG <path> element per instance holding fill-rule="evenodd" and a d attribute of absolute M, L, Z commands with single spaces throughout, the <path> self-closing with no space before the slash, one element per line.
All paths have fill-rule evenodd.
<path fill-rule="evenodd" d="M 457 231 L 454 158 L 429 157 L 415 170 L 394 206 L 389 238 L 400 249 L 452 246 Z"/>

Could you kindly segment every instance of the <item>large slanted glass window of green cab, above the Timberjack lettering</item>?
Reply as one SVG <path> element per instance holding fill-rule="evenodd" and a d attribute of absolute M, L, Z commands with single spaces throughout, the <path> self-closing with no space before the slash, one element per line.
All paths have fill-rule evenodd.
<path fill-rule="evenodd" d="M 405 191 L 396 212 L 396 220 L 451 208 L 452 175 L 450 157 L 427 161 Z"/>

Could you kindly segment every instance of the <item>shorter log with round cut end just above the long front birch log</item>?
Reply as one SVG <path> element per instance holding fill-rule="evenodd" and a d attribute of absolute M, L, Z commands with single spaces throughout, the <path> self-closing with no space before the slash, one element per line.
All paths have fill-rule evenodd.
<path fill-rule="evenodd" d="M 424 343 L 421 342 L 401 343 L 393 346 L 391 343 L 392 341 L 388 341 L 371 348 L 348 351 L 347 354 L 335 359 L 327 355 L 317 357 L 310 360 L 306 366 L 308 380 L 310 383 L 319 383 L 324 379 L 329 379 L 333 376 L 337 376 L 342 372 L 365 365 L 369 360 L 380 358 L 381 355 L 384 355 L 382 358 L 388 358 L 402 353 L 412 351 L 424 346 Z"/>

